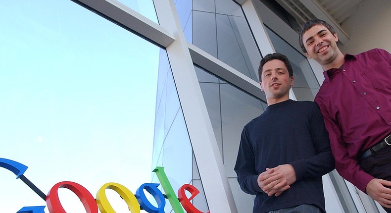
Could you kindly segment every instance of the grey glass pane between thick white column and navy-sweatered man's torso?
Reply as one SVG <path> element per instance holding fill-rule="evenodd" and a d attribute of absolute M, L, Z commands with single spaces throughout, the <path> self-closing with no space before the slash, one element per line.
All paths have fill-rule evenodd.
<path fill-rule="evenodd" d="M 262 114 L 267 105 L 203 69 L 195 69 L 237 209 L 239 213 L 251 212 L 254 198 L 240 189 L 234 166 L 244 125 Z"/>

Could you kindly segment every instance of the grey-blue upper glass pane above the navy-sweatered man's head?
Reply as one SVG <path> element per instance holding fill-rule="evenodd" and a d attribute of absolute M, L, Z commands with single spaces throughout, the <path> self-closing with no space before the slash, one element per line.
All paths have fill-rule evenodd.
<path fill-rule="evenodd" d="M 177 0 L 188 42 L 258 81 L 261 56 L 242 8 L 232 0 Z"/>

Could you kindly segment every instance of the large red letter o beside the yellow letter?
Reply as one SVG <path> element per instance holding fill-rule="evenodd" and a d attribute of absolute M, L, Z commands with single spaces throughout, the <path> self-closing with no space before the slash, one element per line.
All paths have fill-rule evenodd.
<path fill-rule="evenodd" d="M 91 193 L 82 185 L 70 181 L 59 182 L 51 187 L 46 197 L 46 204 L 50 213 L 66 213 L 58 198 L 59 188 L 67 188 L 75 193 L 83 203 L 87 213 L 98 213 L 98 205 Z"/>

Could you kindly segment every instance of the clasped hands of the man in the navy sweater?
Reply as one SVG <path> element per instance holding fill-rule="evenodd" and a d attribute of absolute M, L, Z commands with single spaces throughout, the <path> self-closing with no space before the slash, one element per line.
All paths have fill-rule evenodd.
<path fill-rule="evenodd" d="M 274 168 L 266 168 L 266 171 L 258 175 L 258 186 L 268 196 L 281 195 L 291 188 L 296 181 L 296 172 L 291 164 L 283 164 Z"/>

